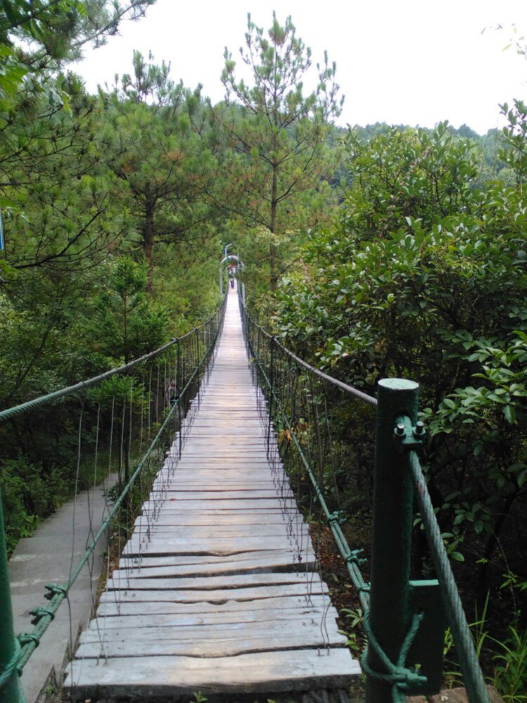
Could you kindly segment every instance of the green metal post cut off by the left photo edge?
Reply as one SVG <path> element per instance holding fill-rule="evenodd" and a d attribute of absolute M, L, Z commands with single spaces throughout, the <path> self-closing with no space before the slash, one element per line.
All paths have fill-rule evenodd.
<path fill-rule="evenodd" d="M 13 609 L 11 607 L 11 588 L 9 587 L 9 571 L 7 566 L 6 533 L 4 531 L 4 511 L 2 510 L 2 496 L 0 491 L 0 678 L 4 671 L 13 664 L 13 657 L 18 650 L 13 631 Z M 0 701 L 2 703 L 25 703 L 22 684 L 18 677 L 18 670 L 14 667 L 13 673 L 6 683 L 0 687 Z"/>

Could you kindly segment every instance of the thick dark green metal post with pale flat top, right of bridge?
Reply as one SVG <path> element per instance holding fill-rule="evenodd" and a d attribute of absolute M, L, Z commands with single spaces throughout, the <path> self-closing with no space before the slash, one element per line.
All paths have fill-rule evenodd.
<path fill-rule="evenodd" d="M 417 422 L 419 385 L 390 378 L 379 381 L 375 470 L 373 489 L 370 625 L 394 664 L 410 626 L 410 538 L 413 489 L 408 454 L 399 453 L 393 441 L 396 418 L 406 415 Z M 368 647 L 370 669 L 387 673 Z M 372 676 L 366 681 L 367 703 L 391 703 L 391 684 Z"/>

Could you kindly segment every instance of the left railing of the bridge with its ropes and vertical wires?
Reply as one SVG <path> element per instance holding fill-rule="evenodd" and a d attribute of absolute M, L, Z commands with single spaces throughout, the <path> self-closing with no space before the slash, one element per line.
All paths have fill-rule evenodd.
<path fill-rule="evenodd" d="M 154 511 L 164 498 L 168 473 L 181 457 L 200 404 L 202 381 L 207 380 L 214 362 L 226 302 L 225 295 L 209 320 L 155 352 L 0 412 L 3 460 L 9 458 L 9 437 L 15 436 L 19 446 L 27 447 L 28 460 L 38 460 L 43 470 L 47 467 L 51 473 L 57 463 L 69 465 L 75 495 L 82 487 L 95 489 L 105 476 L 110 482 L 115 480 L 107 514 L 98 529 L 91 529 L 79 562 L 75 565 L 72 556 L 67 581 L 46 586 L 49 604 L 30 611 L 34 629 L 16 638 L 0 494 L 0 702 L 24 703 L 19 681 L 22 669 L 60 603 L 92 559 L 100 539 L 115 532 L 120 542 L 120 526 L 134 524 L 136 512 L 150 495 L 152 485 Z M 167 455 L 171 445 L 173 449 Z M 41 456 L 34 456 L 37 446 L 44 448 Z M 152 498 L 149 505 L 152 510 Z M 148 519 L 147 514 L 145 533 Z M 64 547 L 58 545 L 60 548 Z"/>

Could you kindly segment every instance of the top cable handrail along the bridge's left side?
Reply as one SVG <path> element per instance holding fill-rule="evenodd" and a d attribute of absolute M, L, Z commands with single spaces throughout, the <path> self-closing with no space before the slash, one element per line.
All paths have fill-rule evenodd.
<path fill-rule="evenodd" d="M 38 396 L 37 398 L 34 398 L 32 400 L 25 401 L 25 403 L 20 403 L 19 405 L 15 405 L 12 408 L 6 408 L 6 410 L 0 411 L 0 425 L 1 423 L 6 422 L 6 420 L 11 420 L 16 415 L 21 415 L 22 413 L 32 410 L 33 408 L 48 405 L 50 403 L 60 400 L 61 398 L 64 398 L 65 396 L 69 396 L 74 393 L 77 393 L 78 391 L 82 391 L 86 388 L 98 385 L 101 381 L 105 381 L 108 378 L 112 378 L 112 376 L 115 376 L 119 373 L 125 373 L 131 368 L 134 368 L 135 366 L 138 366 L 141 363 L 145 363 L 145 361 L 155 359 L 156 356 L 160 356 L 163 352 L 166 352 L 167 349 L 174 347 L 174 344 L 178 344 L 178 342 L 183 342 L 183 340 L 188 339 L 188 337 L 195 334 L 198 330 L 202 330 L 210 321 L 212 321 L 212 319 L 214 319 L 214 316 L 216 316 L 218 311 L 221 309 L 221 306 L 225 304 L 225 301 L 226 296 L 223 296 L 223 301 L 221 302 L 219 308 L 214 311 L 214 314 L 212 314 L 206 321 L 204 321 L 204 323 L 199 325 L 199 327 L 195 327 L 193 330 L 190 330 L 190 332 L 186 333 L 182 337 L 174 337 L 173 340 L 170 340 L 170 342 L 167 342 L 167 344 L 163 344 L 162 347 L 159 347 L 159 349 L 155 349 L 153 352 L 143 354 L 143 356 L 139 356 L 138 359 L 134 359 L 133 361 L 129 361 L 129 363 L 125 363 L 122 366 L 117 366 L 116 368 L 112 368 L 109 371 L 100 373 L 96 376 L 93 376 L 93 378 L 79 381 L 78 383 L 75 383 L 72 386 L 66 386 L 64 388 L 59 389 L 58 391 L 53 391 L 51 393 L 47 393 L 46 395 Z"/>

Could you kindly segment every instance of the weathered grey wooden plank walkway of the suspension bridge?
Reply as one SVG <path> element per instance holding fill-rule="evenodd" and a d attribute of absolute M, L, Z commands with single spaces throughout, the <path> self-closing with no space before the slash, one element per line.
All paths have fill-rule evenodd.
<path fill-rule="evenodd" d="M 268 464 L 233 291 L 209 386 L 168 474 L 68 666 L 74 698 L 347 688 L 360 669 L 287 479 Z"/>

